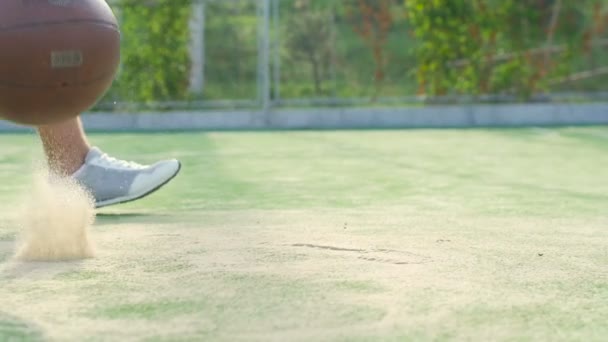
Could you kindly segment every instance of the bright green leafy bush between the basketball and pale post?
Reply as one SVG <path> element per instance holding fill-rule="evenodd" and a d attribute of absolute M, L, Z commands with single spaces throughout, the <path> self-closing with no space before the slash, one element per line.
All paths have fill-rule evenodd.
<path fill-rule="evenodd" d="M 118 0 L 121 72 L 106 101 L 154 102 L 188 96 L 190 1 Z"/>

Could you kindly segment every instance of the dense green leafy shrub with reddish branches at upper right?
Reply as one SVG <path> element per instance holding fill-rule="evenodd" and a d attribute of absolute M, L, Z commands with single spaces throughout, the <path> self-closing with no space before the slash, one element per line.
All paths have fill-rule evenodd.
<path fill-rule="evenodd" d="M 408 0 L 419 92 L 516 94 L 527 99 L 584 53 L 583 14 L 560 0 Z M 582 6 L 581 6 L 582 5 Z M 585 6 L 587 5 L 587 6 Z M 562 44 L 558 51 L 549 50 Z"/>

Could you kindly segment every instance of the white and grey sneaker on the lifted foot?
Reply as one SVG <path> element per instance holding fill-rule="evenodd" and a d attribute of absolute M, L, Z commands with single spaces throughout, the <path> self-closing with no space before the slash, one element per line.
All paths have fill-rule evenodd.
<path fill-rule="evenodd" d="M 173 179 L 180 168 L 175 159 L 140 165 L 112 158 L 93 147 L 72 177 L 91 193 L 95 207 L 101 208 L 153 193 Z"/>

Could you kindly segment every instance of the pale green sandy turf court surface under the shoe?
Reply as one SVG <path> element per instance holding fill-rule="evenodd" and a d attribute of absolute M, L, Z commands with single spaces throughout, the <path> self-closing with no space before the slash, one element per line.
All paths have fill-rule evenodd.
<path fill-rule="evenodd" d="M 0 136 L 0 340 L 605 341 L 608 128 L 96 134 L 174 156 L 98 255 L 11 259 L 40 155 Z"/>

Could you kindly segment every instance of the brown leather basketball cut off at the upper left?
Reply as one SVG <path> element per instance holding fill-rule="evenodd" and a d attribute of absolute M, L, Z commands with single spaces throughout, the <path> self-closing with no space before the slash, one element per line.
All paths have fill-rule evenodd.
<path fill-rule="evenodd" d="M 119 63 L 119 26 L 104 0 L 0 0 L 0 118 L 73 118 L 108 91 Z"/>

